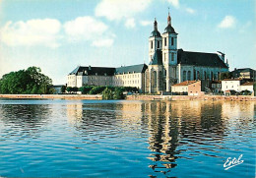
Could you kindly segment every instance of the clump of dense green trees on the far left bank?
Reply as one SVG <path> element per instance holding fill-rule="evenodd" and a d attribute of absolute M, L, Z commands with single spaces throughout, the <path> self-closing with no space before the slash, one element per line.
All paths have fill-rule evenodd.
<path fill-rule="evenodd" d="M 41 73 L 38 67 L 29 67 L 5 74 L 0 79 L 0 93 L 2 94 L 46 94 L 53 93 L 50 89 L 52 80 Z"/>

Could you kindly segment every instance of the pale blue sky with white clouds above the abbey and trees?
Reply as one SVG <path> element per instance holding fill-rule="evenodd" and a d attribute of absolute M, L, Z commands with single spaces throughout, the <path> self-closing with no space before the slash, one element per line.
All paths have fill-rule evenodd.
<path fill-rule="evenodd" d="M 64 85 L 80 65 L 149 64 L 154 20 L 162 33 L 168 8 L 178 48 L 256 69 L 255 0 L 0 0 L 0 78 L 36 66 Z"/>

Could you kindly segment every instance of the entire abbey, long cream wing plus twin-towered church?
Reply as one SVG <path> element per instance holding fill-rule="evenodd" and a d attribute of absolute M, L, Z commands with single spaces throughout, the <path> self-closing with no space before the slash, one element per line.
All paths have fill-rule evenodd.
<path fill-rule="evenodd" d="M 171 86 L 184 81 L 202 81 L 208 87 L 228 71 L 224 53 L 204 53 L 177 49 L 178 33 L 167 26 L 160 34 L 158 22 L 149 38 L 149 65 L 141 64 L 119 68 L 77 67 L 68 75 L 67 87 L 118 86 L 136 87 L 142 92 L 171 91 Z"/>

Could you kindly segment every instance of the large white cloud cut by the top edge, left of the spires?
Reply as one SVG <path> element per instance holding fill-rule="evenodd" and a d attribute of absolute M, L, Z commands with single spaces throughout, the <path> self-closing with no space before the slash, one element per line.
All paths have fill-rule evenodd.
<path fill-rule="evenodd" d="M 96 16 L 109 21 L 132 18 L 149 7 L 152 0 L 101 0 L 96 6 Z"/>

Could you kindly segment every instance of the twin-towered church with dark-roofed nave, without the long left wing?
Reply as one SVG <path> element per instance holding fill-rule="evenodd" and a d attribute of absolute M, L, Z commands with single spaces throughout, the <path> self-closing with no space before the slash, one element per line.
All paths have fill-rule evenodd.
<path fill-rule="evenodd" d="M 160 34 L 155 20 L 149 38 L 149 68 L 146 71 L 145 92 L 171 91 L 171 86 L 184 81 L 202 81 L 209 86 L 228 71 L 224 53 L 191 52 L 177 49 L 178 33 L 171 26 L 168 14 L 167 27 Z"/>

